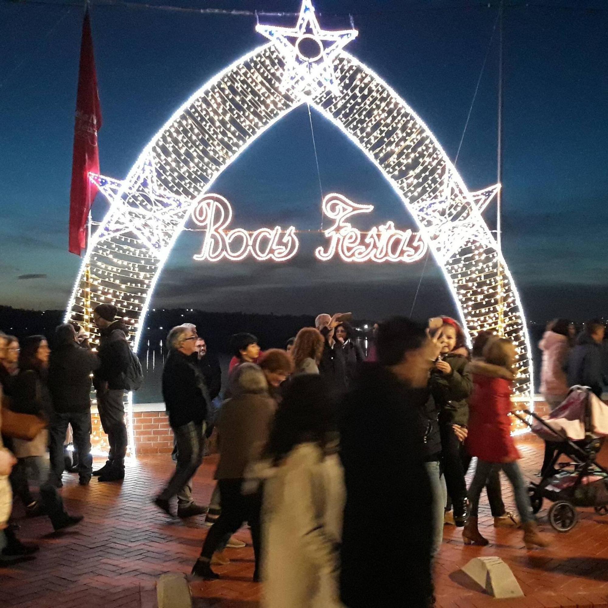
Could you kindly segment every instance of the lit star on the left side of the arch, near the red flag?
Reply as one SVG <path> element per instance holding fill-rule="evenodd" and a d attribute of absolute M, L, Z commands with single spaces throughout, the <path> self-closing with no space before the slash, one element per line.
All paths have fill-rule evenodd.
<path fill-rule="evenodd" d="M 150 253 L 161 258 L 171 241 L 171 235 L 184 218 L 190 203 L 186 196 L 166 192 L 156 177 L 151 158 L 131 182 L 89 173 L 89 179 L 111 204 L 110 215 L 97 240 L 133 232 Z"/>

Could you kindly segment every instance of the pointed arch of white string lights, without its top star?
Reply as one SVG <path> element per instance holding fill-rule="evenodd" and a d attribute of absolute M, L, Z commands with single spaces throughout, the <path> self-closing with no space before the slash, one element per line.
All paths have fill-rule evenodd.
<path fill-rule="evenodd" d="M 137 348 L 154 285 L 192 207 L 251 142 L 308 102 L 367 154 L 401 197 L 443 269 L 468 336 L 493 330 L 513 339 L 515 392 L 531 404 L 522 306 L 481 215 L 497 187 L 469 192 L 424 122 L 359 60 L 342 51 L 333 69 L 339 94 L 282 91 L 285 61 L 272 44 L 260 47 L 202 86 L 148 143 L 125 181 L 97 178 L 115 202 L 91 238 L 66 319 L 95 337 L 92 308 L 116 302 Z"/>

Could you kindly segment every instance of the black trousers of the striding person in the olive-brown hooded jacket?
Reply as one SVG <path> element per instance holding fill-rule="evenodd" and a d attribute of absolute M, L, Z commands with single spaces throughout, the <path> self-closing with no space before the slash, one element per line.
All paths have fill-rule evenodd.
<path fill-rule="evenodd" d="M 218 550 L 224 539 L 234 534 L 244 522 L 249 522 L 251 538 L 254 543 L 255 573 L 259 573 L 261 556 L 260 511 L 263 485 L 260 483 L 260 487 L 254 494 L 243 494 L 241 493 L 243 481 L 243 479 L 219 480 L 222 512 L 217 521 L 209 528 L 209 533 L 202 545 L 201 558 L 205 561 L 211 561 L 213 553 Z"/>

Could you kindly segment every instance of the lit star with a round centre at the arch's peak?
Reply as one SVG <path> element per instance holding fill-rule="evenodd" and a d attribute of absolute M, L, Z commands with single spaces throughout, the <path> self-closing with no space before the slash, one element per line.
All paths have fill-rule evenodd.
<path fill-rule="evenodd" d="M 311 0 L 302 0 L 295 27 L 258 24 L 255 30 L 274 42 L 285 60 L 279 85 L 282 92 L 315 95 L 329 89 L 334 95 L 340 94 L 333 61 L 356 38 L 357 30 L 320 29 Z"/>

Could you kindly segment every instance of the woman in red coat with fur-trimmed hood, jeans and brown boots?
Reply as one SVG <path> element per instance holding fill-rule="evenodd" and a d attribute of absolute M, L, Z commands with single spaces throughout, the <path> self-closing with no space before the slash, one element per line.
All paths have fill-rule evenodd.
<path fill-rule="evenodd" d="M 515 347 L 511 340 L 499 338 L 489 342 L 483 354 L 485 362 L 474 361 L 471 364 L 473 392 L 469 406 L 467 449 L 469 454 L 477 456 L 477 469 L 469 488 L 471 515 L 462 537 L 466 545 L 488 544 L 477 528 L 479 497 L 489 475 L 502 469 L 513 485 L 526 547 L 547 547 L 548 542 L 536 529 L 528 489 L 517 465 L 519 452 L 511 437 L 508 414 L 513 410 L 511 385 L 515 378 Z"/>

